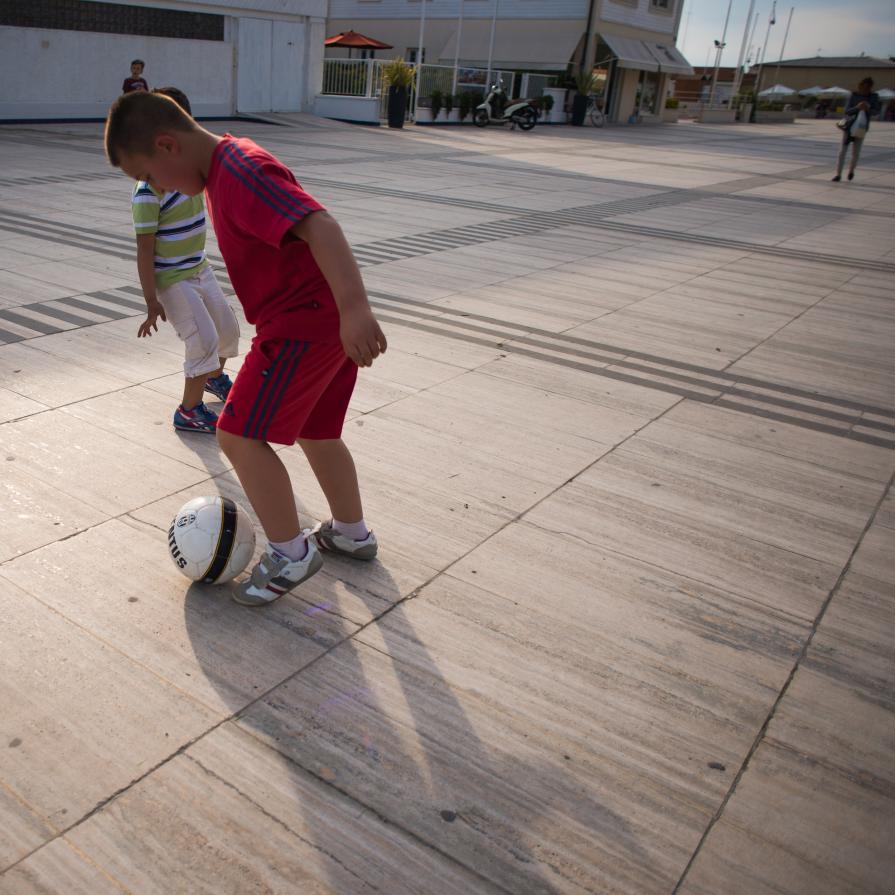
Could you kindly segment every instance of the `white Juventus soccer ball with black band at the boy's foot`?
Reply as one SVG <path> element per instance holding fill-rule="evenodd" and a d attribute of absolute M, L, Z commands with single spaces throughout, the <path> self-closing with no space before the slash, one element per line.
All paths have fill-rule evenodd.
<path fill-rule="evenodd" d="M 192 581 L 223 584 L 235 578 L 255 552 L 255 528 L 229 497 L 196 497 L 171 520 L 168 550 Z"/>

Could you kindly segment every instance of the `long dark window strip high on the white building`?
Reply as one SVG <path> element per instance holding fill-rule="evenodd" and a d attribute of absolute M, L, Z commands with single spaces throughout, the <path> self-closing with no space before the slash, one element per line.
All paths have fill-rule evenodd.
<path fill-rule="evenodd" d="M 223 40 L 224 17 L 85 0 L 0 0 L 0 25 L 145 37 Z"/>

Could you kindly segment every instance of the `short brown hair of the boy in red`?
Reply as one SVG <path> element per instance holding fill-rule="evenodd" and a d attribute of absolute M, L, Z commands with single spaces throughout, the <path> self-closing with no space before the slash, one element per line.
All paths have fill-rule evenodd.
<path fill-rule="evenodd" d="M 106 118 L 106 155 L 118 168 L 122 153 L 152 155 L 159 134 L 195 128 L 195 121 L 173 99 L 145 91 L 125 93 L 112 103 Z"/>

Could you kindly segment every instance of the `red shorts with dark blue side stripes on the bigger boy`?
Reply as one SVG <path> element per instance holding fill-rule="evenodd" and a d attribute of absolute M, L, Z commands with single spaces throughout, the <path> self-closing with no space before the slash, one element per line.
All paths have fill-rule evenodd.
<path fill-rule="evenodd" d="M 218 428 L 274 444 L 341 438 L 356 379 L 357 364 L 338 342 L 256 336 Z"/>

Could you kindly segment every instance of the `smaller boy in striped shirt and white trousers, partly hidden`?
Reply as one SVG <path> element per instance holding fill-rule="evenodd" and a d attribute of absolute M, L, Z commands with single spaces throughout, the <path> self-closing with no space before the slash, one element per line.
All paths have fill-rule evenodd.
<path fill-rule="evenodd" d="M 176 87 L 160 87 L 187 114 L 190 104 Z M 137 233 L 137 270 L 146 299 L 146 319 L 138 337 L 170 323 L 184 343 L 186 381 L 174 412 L 174 428 L 213 433 L 217 414 L 202 400 L 210 392 L 227 400 L 232 382 L 227 358 L 239 353 L 239 324 L 205 257 L 205 205 L 202 195 L 163 191 L 137 181 L 132 198 Z"/>

